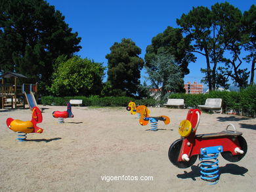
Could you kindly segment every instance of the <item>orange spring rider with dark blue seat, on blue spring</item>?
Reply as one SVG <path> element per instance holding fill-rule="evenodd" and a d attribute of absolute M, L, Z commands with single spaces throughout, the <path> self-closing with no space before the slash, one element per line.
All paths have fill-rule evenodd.
<path fill-rule="evenodd" d="M 165 125 L 168 125 L 170 123 L 169 117 L 165 115 L 161 115 L 158 117 L 150 117 L 149 113 L 150 111 L 146 106 L 138 106 L 137 107 L 137 113 L 140 113 L 140 119 L 139 123 L 140 125 L 148 125 L 148 122 L 150 122 L 150 130 L 158 130 L 158 121 L 163 121 Z"/>

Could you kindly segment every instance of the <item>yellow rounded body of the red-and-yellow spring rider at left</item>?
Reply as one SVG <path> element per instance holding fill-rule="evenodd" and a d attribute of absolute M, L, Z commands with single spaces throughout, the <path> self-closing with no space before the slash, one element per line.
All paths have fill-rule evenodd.
<path fill-rule="evenodd" d="M 18 119 L 13 120 L 10 123 L 9 128 L 15 132 L 25 132 L 31 133 L 33 132 L 33 123 L 31 121 L 20 121 Z"/>

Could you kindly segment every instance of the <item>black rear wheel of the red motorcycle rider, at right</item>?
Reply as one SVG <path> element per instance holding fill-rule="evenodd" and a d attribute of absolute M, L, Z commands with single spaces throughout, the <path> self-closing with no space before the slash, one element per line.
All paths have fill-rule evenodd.
<path fill-rule="evenodd" d="M 226 161 L 238 162 L 247 153 L 247 142 L 245 141 L 245 139 L 242 136 L 238 136 L 238 142 L 240 144 L 241 149 L 244 151 L 244 153 L 238 154 L 238 155 L 232 155 L 232 153 L 230 151 L 223 151 L 221 153 L 221 156 L 223 156 L 223 158 L 226 159 Z"/>

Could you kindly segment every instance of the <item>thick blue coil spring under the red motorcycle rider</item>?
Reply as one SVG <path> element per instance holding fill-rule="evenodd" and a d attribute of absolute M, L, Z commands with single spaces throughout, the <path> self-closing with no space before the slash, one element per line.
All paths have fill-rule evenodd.
<path fill-rule="evenodd" d="M 211 185 L 219 182 L 219 160 L 217 159 L 218 156 L 219 153 L 211 153 L 200 156 L 200 160 L 202 160 L 202 162 L 200 163 L 200 172 L 202 174 L 201 178 L 202 180 L 205 180 L 207 182 L 213 182 L 210 183 Z"/>

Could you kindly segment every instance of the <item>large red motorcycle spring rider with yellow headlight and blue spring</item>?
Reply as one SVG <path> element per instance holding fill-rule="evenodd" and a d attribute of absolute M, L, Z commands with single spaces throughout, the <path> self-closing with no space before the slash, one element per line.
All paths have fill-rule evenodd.
<path fill-rule="evenodd" d="M 201 111 L 190 109 L 186 120 L 179 125 L 181 139 L 169 147 L 169 160 L 179 168 L 188 168 L 199 156 L 201 178 L 215 184 L 219 182 L 219 153 L 226 161 L 238 162 L 247 152 L 247 143 L 242 132 L 237 132 L 234 125 L 229 124 L 226 130 L 210 134 L 196 134 L 200 122 Z M 228 130 L 232 126 L 234 130 Z"/>

